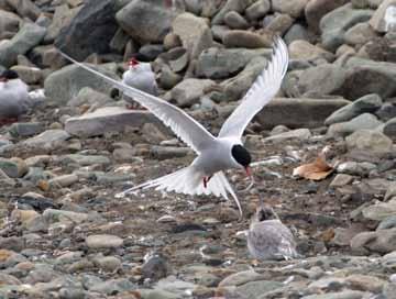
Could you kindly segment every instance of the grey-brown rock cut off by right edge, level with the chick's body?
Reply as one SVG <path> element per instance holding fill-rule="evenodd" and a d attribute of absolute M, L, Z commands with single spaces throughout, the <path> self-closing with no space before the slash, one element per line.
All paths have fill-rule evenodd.
<path fill-rule="evenodd" d="M 396 250 L 396 229 L 363 232 L 351 240 L 351 248 L 356 252 L 386 254 Z"/>

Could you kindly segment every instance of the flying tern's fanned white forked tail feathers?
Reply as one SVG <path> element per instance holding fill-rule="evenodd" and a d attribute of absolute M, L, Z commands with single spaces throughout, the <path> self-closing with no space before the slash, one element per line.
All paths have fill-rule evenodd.
<path fill-rule="evenodd" d="M 197 171 L 194 166 L 182 168 L 169 175 L 148 180 L 139 186 L 132 187 L 119 195 L 122 197 L 127 193 L 136 191 L 139 189 L 155 188 L 155 190 L 164 190 L 167 192 L 175 191 L 178 193 L 185 195 L 215 195 L 217 197 L 223 197 L 229 199 L 229 195 L 235 201 L 238 209 L 242 215 L 242 208 L 237 198 L 235 192 L 233 191 L 230 182 L 227 180 L 223 171 L 216 173 L 211 179 L 208 181 L 207 187 L 204 186 L 204 174 Z"/>

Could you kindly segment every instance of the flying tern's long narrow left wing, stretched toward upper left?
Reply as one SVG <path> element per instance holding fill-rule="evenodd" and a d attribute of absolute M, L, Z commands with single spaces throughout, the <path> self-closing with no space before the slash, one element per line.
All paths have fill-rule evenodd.
<path fill-rule="evenodd" d="M 175 134 L 190 146 L 196 153 L 200 153 L 204 148 L 210 146 L 216 140 L 200 123 L 194 120 L 190 115 L 184 112 L 178 107 L 175 107 L 163 99 L 148 95 L 136 88 L 130 87 L 121 81 L 114 80 L 91 67 L 81 64 L 65 53 L 61 54 L 74 64 L 81 68 L 101 77 L 117 89 L 133 98 L 144 108 L 148 109 L 155 117 L 157 117 L 165 125 L 169 126 Z"/>

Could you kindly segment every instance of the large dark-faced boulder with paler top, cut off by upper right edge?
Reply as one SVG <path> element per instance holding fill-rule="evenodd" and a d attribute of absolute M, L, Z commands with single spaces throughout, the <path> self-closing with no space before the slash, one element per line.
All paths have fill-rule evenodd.
<path fill-rule="evenodd" d="M 340 93 L 355 100 L 367 93 L 382 99 L 396 96 L 396 64 L 352 57 L 346 63 L 346 79 Z"/>

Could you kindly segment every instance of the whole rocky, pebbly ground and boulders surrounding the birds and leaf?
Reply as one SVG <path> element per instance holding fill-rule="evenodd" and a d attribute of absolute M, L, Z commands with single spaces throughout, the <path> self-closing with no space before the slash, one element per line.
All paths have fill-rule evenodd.
<path fill-rule="evenodd" d="M 0 0 L 0 70 L 46 99 L 0 128 L 0 298 L 396 298 L 394 0 Z M 271 55 L 278 97 L 246 130 L 256 184 L 242 202 L 121 190 L 194 153 L 56 47 L 120 78 L 152 62 L 161 96 L 212 133 Z M 330 146 L 334 170 L 297 179 Z M 253 261 L 260 201 L 300 259 Z"/>

